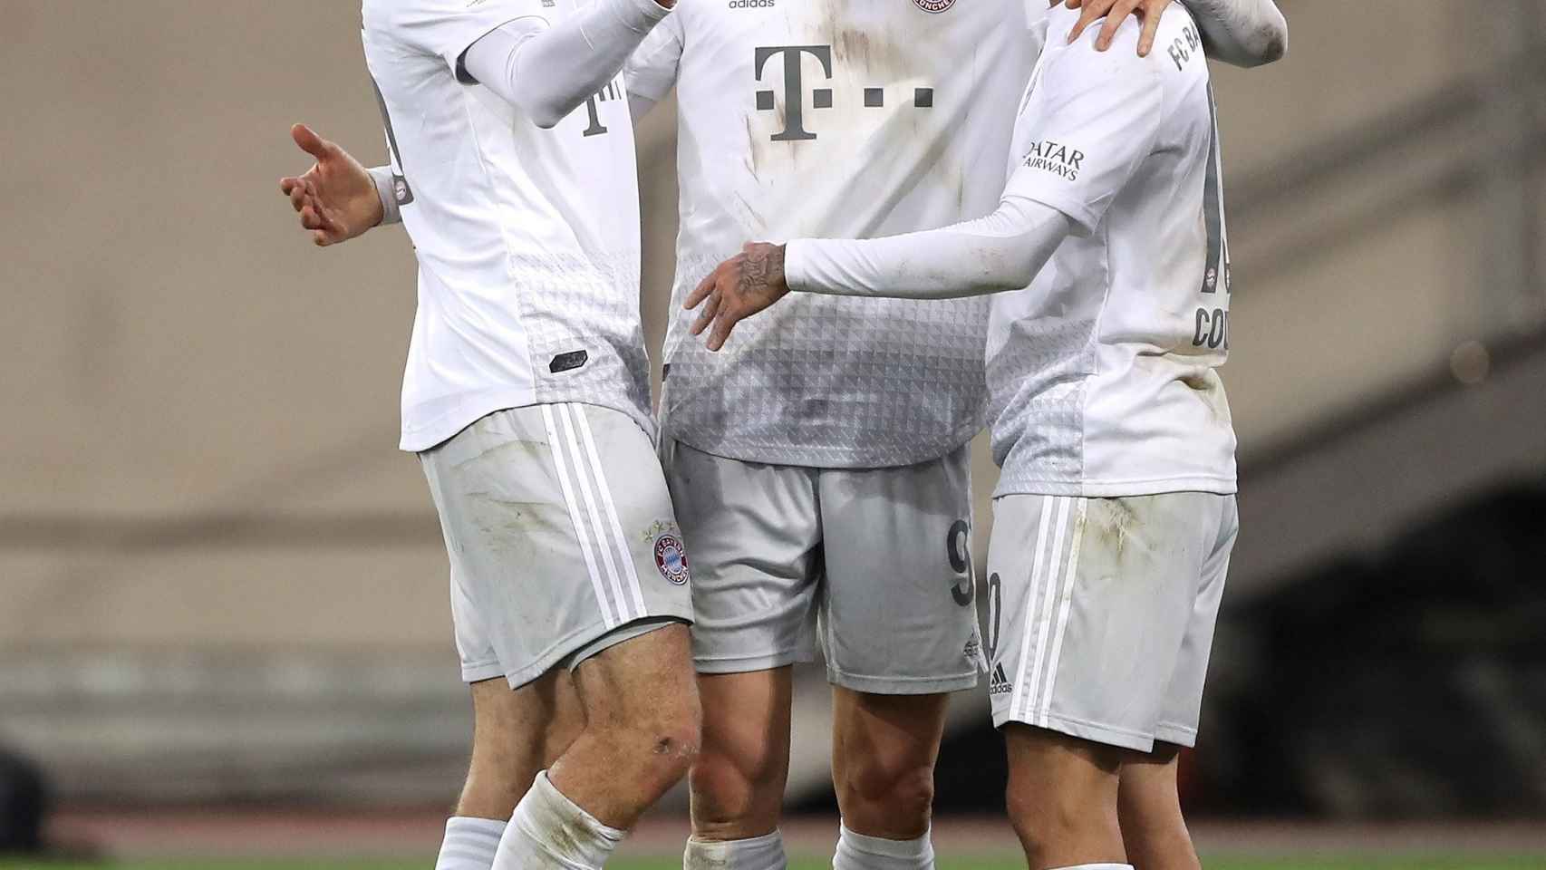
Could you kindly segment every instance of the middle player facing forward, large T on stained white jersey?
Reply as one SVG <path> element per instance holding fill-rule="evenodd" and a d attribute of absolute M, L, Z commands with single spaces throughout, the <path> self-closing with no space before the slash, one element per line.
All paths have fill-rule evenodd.
<path fill-rule="evenodd" d="M 1138 5 L 1115 3 L 1122 17 Z M 1226 46 L 1248 46 L 1232 60 L 1260 60 L 1249 40 L 1271 3 L 1197 5 Z M 1019 97 L 1039 46 L 1023 6 L 1000 0 L 676 12 L 626 70 L 640 110 L 673 85 L 680 96 L 676 300 L 745 238 L 991 212 L 1002 176 L 982 167 L 1013 128 L 997 107 Z M 785 864 L 790 664 L 813 655 L 819 612 L 836 865 L 928 867 L 946 692 L 976 685 L 980 657 L 966 442 L 986 400 L 988 303 L 813 300 L 793 318 L 812 334 L 768 329 L 734 365 L 685 340 L 690 318 L 668 338 L 665 451 L 705 692 L 686 862 Z"/>

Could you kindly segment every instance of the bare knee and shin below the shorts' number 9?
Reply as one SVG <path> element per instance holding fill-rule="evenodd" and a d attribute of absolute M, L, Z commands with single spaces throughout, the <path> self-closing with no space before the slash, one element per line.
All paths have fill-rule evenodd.
<path fill-rule="evenodd" d="M 833 686 L 832 698 L 832 780 L 843 824 L 886 839 L 928 833 L 949 695 L 877 695 Z"/>

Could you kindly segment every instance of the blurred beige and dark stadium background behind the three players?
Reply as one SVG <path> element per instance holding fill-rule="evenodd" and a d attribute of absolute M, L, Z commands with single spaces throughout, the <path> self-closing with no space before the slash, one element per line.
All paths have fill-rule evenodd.
<path fill-rule="evenodd" d="M 1282 6 L 1289 59 L 1215 73 L 1245 532 L 1198 836 L 1218 867 L 1546 867 L 1546 2 Z M 0 3 L 0 845 L 40 777 L 83 856 L 430 865 L 470 717 L 394 450 L 413 252 L 314 250 L 277 195 L 294 121 L 382 153 L 357 25 Z M 640 131 L 657 343 L 671 111 Z M 816 669 L 798 703 L 819 856 Z M 1013 856 L 985 709 L 940 765 L 955 867 Z M 682 807 L 632 853 L 673 855 Z"/>

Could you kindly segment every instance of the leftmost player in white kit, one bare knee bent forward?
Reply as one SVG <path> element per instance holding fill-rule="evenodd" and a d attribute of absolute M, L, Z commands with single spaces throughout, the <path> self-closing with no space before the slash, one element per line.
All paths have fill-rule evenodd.
<path fill-rule="evenodd" d="M 402 448 L 439 510 L 476 726 L 441 870 L 600 868 L 697 749 L 618 77 L 671 5 L 365 0 L 385 201 L 295 130 L 318 162 L 281 187 L 317 241 L 391 206 L 417 252 Z"/>

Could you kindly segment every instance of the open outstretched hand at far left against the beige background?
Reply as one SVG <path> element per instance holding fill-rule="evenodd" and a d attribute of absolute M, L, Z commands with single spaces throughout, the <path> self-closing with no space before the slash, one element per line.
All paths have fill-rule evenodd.
<path fill-rule="evenodd" d="M 382 223 L 376 181 L 359 161 L 305 124 L 291 127 L 291 138 L 317 162 L 306 175 L 281 178 L 280 192 L 289 196 L 317 247 L 348 241 Z"/>

